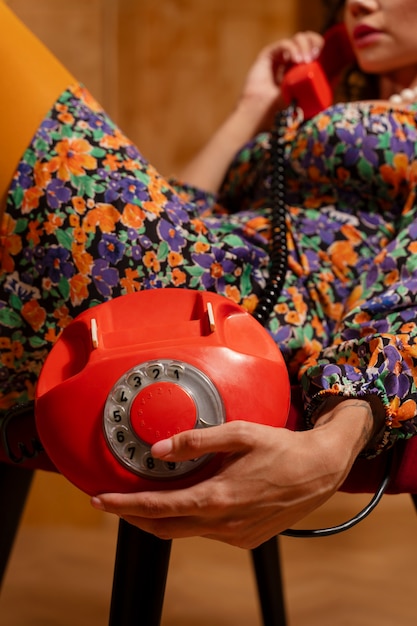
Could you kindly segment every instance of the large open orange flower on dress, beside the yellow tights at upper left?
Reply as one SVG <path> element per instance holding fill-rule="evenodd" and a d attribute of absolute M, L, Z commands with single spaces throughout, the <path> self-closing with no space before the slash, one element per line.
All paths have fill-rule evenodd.
<path fill-rule="evenodd" d="M 84 176 L 86 170 L 94 170 L 97 160 L 89 153 L 92 146 L 85 139 L 63 139 L 56 146 L 58 156 L 49 161 L 51 172 L 57 172 L 61 180 L 70 180 L 71 176 Z"/>

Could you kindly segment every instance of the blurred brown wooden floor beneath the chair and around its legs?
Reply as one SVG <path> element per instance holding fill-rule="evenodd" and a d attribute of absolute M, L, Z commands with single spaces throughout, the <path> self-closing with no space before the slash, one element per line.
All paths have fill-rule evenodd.
<path fill-rule="evenodd" d="M 308 523 L 340 522 L 365 501 L 338 494 Z M 116 532 L 117 520 L 106 515 L 98 528 L 23 525 L 0 626 L 105 626 Z M 408 496 L 386 496 L 347 533 L 282 538 L 281 547 L 289 626 L 417 623 L 417 517 Z M 209 540 L 176 541 L 163 626 L 214 624 L 261 624 L 249 555 Z"/>

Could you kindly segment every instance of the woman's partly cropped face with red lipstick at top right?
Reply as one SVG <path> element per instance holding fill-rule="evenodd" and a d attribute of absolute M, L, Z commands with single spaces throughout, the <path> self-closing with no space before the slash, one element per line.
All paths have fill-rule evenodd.
<path fill-rule="evenodd" d="M 345 0 L 344 18 L 364 72 L 417 77 L 416 0 Z"/>

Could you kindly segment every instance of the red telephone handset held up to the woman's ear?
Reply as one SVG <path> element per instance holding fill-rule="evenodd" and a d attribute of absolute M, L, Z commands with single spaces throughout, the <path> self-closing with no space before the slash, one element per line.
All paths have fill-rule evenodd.
<path fill-rule="evenodd" d="M 284 101 L 300 106 L 305 119 L 314 117 L 332 104 L 335 81 L 354 59 L 344 24 L 332 26 L 324 35 L 317 60 L 294 65 L 286 72 L 281 85 Z"/>

